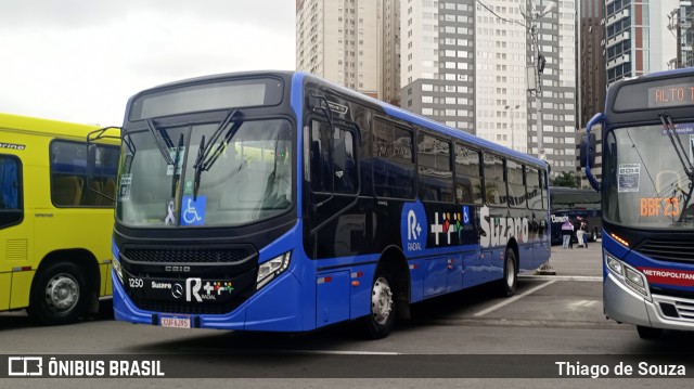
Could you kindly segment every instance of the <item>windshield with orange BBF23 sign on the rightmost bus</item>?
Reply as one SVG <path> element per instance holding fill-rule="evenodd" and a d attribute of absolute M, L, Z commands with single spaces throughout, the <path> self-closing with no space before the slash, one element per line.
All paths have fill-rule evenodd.
<path fill-rule="evenodd" d="M 672 138 L 670 138 L 672 135 Z M 681 142 L 686 155 L 678 156 Z M 682 150 L 682 147 L 679 147 Z M 635 228 L 691 230 L 694 125 L 660 125 L 609 131 L 603 150 L 603 215 L 606 221 Z"/>

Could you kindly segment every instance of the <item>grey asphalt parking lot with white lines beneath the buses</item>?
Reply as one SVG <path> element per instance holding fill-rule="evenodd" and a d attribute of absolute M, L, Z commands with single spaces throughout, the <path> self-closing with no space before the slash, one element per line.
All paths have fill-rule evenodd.
<path fill-rule="evenodd" d="M 600 252 L 599 244 L 573 250 L 554 246 L 550 263 L 555 275 L 523 274 L 511 298 L 496 297 L 492 288 L 483 286 L 417 303 L 412 320 L 400 322 L 389 337 L 377 341 L 364 340 L 349 323 L 294 335 L 132 325 L 115 322 L 110 303 L 104 302 L 99 316 L 67 326 L 35 326 L 23 312 L 0 314 L 0 342 L 7 354 L 175 354 L 184 367 L 169 371 L 169 376 L 236 378 L 348 378 L 367 373 L 375 377 L 465 377 L 498 368 L 507 368 L 511 373 L 505 374 L 511 376 L 551 376 L 553 359 L 567 356 L 590 361 L 595 355 L 680 354 L 691 359 L 691 334 L 668 332 L 658 341 L 644 341 L 633 326 L 605 320 Z M 262 363 L 267 355 L 272 355 L 271 369 Z M 444 359 L 423 369 L 410 366 L 407 358 L 393 360 L 394 355 Z M 457 360 L 461 355 L 490 359 L 477 359 L 486 367 L 476 365 L 481 371 L 471 373 L 453 368 L 462 363 Z M 529 359 L 529 371 L 518 371 L 522 355 Z M 532 373 L 539 363 L 532 362 L 537 355 L 550 360 L 542 362 L 541 372 Z M 383 363 L 383 369 L 371 369 L 373 364 L 368 361 L 373 358 Z M 301 361 L 300 373 L 296 372 L 297 361 Z"/>

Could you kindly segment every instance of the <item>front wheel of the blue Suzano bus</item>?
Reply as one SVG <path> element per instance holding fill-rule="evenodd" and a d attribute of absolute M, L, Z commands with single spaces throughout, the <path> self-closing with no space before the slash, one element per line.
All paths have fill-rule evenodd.
<path fill-rule="evenodd" d="M 383 339 L 395 327 L 396 290 L 393 275 L 376 270 L 370 295 L 369 314 L 362 317 L 362 328 L 369 339 Z"/>

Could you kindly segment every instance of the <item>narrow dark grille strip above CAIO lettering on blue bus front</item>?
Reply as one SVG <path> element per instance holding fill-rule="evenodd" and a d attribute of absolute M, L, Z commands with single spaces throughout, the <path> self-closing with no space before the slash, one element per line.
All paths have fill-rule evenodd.
<path fill-rule="evenodd" d="M 248 248 L 129 248 L 124 257 L 137 262 L 234 263 L 255 255 Z"/>

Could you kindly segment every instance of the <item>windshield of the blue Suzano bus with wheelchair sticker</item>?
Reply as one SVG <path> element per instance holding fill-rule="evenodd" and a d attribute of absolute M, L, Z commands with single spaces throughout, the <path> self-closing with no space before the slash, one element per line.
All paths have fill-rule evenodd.
<path fill-rule="evenodd" d="M 294 182 L 290 122 L 246 120 L 236 127 L 219 147 L 209 145 L 219 155 L 197 180 L 201 142 L 208 147 L 219 124 L 157 127 L 156 137 L 147 130 L 129 132 L 116 218 L 136 228 L 232 226 L 286 211 Z M 157 142 L 170 158 L 164 158 Z"/>

